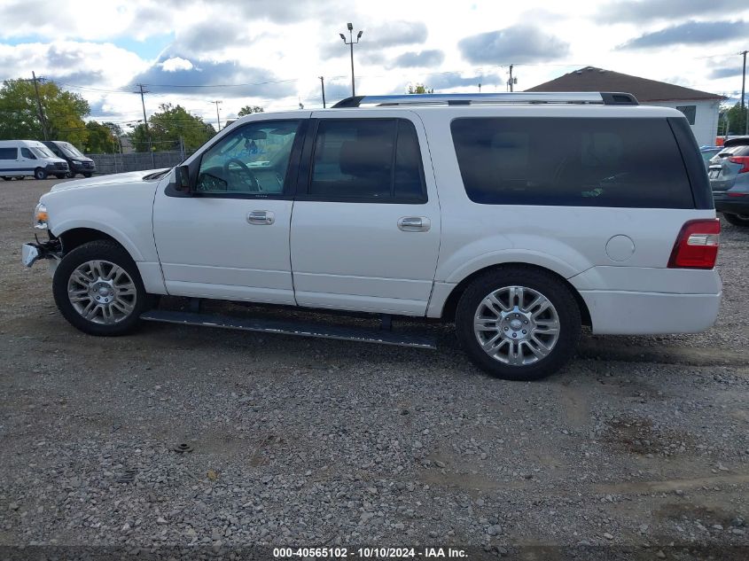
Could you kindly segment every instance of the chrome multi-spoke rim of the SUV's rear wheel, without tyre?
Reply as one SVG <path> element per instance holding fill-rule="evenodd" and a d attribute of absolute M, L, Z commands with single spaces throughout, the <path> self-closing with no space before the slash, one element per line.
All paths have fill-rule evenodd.
<path fill-rule="evenodd" d="M 504 286 L 481 300 L 473 332 L 493 359 L 511 366 L 545 358 L 559 339 L 559 316 L 550 300 L 527 286 Z"/>

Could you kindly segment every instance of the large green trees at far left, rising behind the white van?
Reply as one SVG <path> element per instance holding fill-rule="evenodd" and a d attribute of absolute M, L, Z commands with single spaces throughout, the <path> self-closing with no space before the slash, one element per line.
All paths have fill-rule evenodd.
<path fill-rule="evenodd" d="M 55 82 L 38 84 L 50 140 L 85 144 L 88 136 L 83 117 L 89 102 L 80 94 L 60 90 Z M 42 121 L 36 105 L 34 82 L 6 80 L 0 87 L 0 138 L 43 140 Z"/>

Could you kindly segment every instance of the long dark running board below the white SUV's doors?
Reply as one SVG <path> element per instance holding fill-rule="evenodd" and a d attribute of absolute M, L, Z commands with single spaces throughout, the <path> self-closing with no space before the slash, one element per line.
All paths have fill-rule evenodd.
<path fill-rule="evenodd" d="M 180 323 L 182 325 L 261 331 L 262 333 L 280 333 L 283 335 L 299 335 L 301 337 L 345 339 L 348 341 L 359 341 L 360 343 L 379 343 L 380 345 L 398 345 L 401 347 L 437 348 L 434 339 L 423 335 L 360 327 L 343 327 L 340 325 L 327 325 L 325 323 L 287 322 L 276 319 L 244 319 L 241 317 L 196 314 L 194 312 L 177 312 L 162 309 L 152 309 L 142 314 L 140 318 L 147 322 Z"/>

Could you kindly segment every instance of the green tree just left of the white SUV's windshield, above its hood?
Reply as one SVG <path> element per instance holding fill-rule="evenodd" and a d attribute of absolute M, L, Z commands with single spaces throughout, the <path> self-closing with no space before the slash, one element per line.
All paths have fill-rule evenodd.
<path fill-rule="evenodd" d="M 182 105 L 162 104 L 160 112 L 148 120 L 154 152 L 179 150 L 180 138 L 185 150 L 195 150 L 216 134 L 213 125 L 191 115 Z M 148 152 L 148 133 L 143 123 L 129 133 L 136 152 Z"/>

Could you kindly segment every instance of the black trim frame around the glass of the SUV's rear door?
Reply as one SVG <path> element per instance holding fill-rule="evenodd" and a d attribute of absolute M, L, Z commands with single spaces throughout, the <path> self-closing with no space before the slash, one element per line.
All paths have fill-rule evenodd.
<path fill-rule="evenodd" d="M 354 117 L 354 118 L 331 118 L 331 119 L 320 119 L 313 118 L 310 120 L 310 126 L 308 129 L 308 135 L 304 144 L 304 148 L 301 153 L 301 161 L 299 168 L 299 179 L 297 181 L 296 197 L 295 200 L 312 201 L 312 202 L 332 202 L 332 203 L 373 203 L 379 205 L 425 205 L 429 202 L 429 195 L 426 189 L 426 176 L 424 171 L 424 158 L 421 153 L 421 141 L 418 138 L 418 130 L 416 123 L 410 121 L 410 119 L 404 119 L 402 117 Z M 312 184 L 312 173 L 314 171 L 315 164 L 315 149 L 317 144 L 317 131 L 320 126 L 320 122 L 351 122 L 351 121 L 394 121 L 395 128 L 395 142 L 393 145 L 393 156 L 391 160 L 391 173 L 390 173 L 390 192 L 393 196 L 388 198 L 382 197 L 332 197 L 330 195 L 312 195 L 309 193 L 309 189 Z M 398 144 L 398 127 L 399 121 L 405 121 L 413 127 L 416 133 L 417 147 L 418 147 L 418 174 L 421 181 L 421 197 L 395 197 L 395 164 L 396 164 L 396 151 Z"/>

